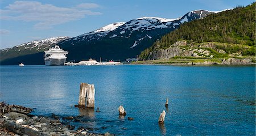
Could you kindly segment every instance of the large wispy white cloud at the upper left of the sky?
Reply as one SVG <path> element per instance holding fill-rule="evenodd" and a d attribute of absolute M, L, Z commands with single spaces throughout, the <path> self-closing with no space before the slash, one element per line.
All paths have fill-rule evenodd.
<path fill-rule="evenodd" d="M 35 22 L 34 28 L 48 29 L 52 28 L 53 25 L 85 18 L 87 15 L 101 14 L 101 12 L 88 10 L 99 7 L 94 3 L 82 3 L 77 7 L 80 7 L 80 10 L 74 7 L 57 7 L 35 1 L 15 1 L 6 6 L 4 10 L 0 10 L 0 19 Z"/>

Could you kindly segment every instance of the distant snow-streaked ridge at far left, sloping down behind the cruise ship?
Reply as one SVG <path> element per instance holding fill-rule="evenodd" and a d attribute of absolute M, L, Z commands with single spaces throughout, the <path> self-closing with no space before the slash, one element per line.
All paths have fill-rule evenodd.
<path fill-rule="evenodd" d="M 30 41 L 24 44 L 14 46 L 13 48 L 2 49 L 0 50 L 0 60 L 2 61 L 3 59 L 7 58 L 14 58 L 18 56 L 25 56 L 28 54 L 43 52 L 44 50 L 47 50 L 50 47 L 55 46 L 58 42 L 66 39 L 69 39 L 69 37 L 51 37 L 49 39 L 44 39 L 40 41 Z"/>

